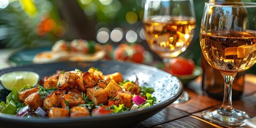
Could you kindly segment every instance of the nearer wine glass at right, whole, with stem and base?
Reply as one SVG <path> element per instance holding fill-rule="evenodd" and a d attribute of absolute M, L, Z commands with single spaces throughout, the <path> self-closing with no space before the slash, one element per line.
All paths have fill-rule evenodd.
<path fill-rule="evenodd" d="M 220 108 L 202 112 L 206 120 L 223 125 L 243 125 L 249 119 L 244 111 L 233 108 L 231 87 L 238 72 L 256 62 L 256 3 L 205 3 L 200 44 L 206 61 L 225 79 Z"/>

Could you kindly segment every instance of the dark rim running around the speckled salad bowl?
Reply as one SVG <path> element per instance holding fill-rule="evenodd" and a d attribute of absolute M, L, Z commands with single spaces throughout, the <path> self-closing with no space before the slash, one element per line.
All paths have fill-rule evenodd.
<path fill-rule="evenodd" d="M 121 65 L 133 65 L 133 66 L 139 66 L 139 67 L 146 67 L 150 68 L 151 70 L 157 70 L 161 71 L 165 74 L 169 74 L 161 69 L 158 69 L 153 66 L 141 64 L 141 63 L 135 63 L 135 62 L 127 62 L 127 61 L 113 61 L 113 60 L 100 60 L 100 61 L 82 61 L 80 63 L 123 63 Z M 0 70 L 0 74 L 3 74 L 4 71 L 8 70 L 18 70 L 22 67 L 30 67 L 30 66 L 46 66 L 46 65 L 61 65 L 62 63 L 77 63 L 77 62 L 52 62 L 52 63 L 40 63 L 40 64 L 29 64 L 29 65 L 22 65 L 22 66 L 17 66 L 17 67 L 9 67 L 5 69 Z M 79 62 L 78 62 L 79 63 Z M 40 74 L 39 74 L 40 75 Z M 170 74 L 171 75 L 171 74 Z M 177 100 L 180 95 L 182 94 L 183 91 L 183 84 L 180 81 L 180 79 L 177 76 L 171 75 L 172 77 L 175 77 L 179 81 L 179 91 L 170 99 L 158 102 L 157 104 L 150 106 L 149 108 L 145 108 L 142 110 L 135 110 L 135 111 L 128 111 L 126 113 L 117 113 L 117 114 L 110 114 L 110 115 L 103 115 L 103 116 L 89 116 L 89 117 L 77 117 L 77 118 L 31 118 L 28 119 L 26 117 L 17 117 L 15 115 L 10 115 L 10 114 L 3 114 L 0 113 L 0 122 L 4 121 L 12 121 L 12 122 L 17 122 L 17 123 L 43 123 L 43 124 L 58 124 L 58 123 L 85 123 L 85 122 L 91 122 L 91 121 L 102 121 L 102 120 L 108 120 L 108 119 L 116 119 L 116 118 L 125 118 L 127 116 L 132 117 L 135 115 L 142 115 L 142 114 L 147 114 L 152 111 L 160 111 L 164 109 L 165 107 L 171 105 L 172 102 Z"/>

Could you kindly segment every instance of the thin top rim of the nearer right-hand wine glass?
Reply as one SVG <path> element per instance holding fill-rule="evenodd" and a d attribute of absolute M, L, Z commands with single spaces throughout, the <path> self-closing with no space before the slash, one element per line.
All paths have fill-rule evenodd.
<path fill-rule="evenodd" d="M 215 7 L 256 7 L 256 2 L 205 2 L 205 5 Z"/>

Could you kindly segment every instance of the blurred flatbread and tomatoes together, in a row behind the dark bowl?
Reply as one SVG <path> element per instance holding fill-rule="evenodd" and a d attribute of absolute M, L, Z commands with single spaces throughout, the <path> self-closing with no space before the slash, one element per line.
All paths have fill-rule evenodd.
<path fill-rule="evenodd" d="M 68 42 L 60 39 L 52 45 L 51 51 L 37 53 L 33 58 L 33 63 L 97 60 L 150 64 L 153 61 L 153 56 L 141 44 L 137 43 L 121 43 L 113 47 L 113 45 L 101 45 L 92 40 L 74 39 Z"/>

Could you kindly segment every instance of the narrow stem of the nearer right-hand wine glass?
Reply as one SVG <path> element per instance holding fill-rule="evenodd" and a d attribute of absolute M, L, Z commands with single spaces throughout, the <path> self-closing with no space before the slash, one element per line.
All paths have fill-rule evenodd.
<path fill-rule="evenodd" d="M 227 74 L 221 71 L 221 75 L 225 80 L 224 97 L 220 108 L 220 113 L 223 115 L 229 115 L 233 111 L 232 106 L 232 84 L 237 73 Z"/>

